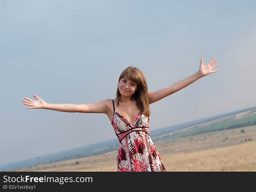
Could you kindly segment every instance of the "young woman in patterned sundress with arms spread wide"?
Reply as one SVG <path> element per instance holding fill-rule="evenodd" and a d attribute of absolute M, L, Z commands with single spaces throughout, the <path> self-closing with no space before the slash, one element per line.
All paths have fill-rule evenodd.
<path fill-rule="evenodd" d="M 162 159 L 150 138 L 149 105 L 169 96 L 199 78 L 210 73 L 218 64 L 212 59 L 203 65 L 201 58 L 199 71 L 174 83 L 170 87 L 148 92 L 144 74 L 136 67 L 126 68 L 118 80 L 115 99 L 97 103 L 52 104 L 34 95 L 36 101 L 24 97 L 27 109 L 49 109 L 62 112 L 105 113 L 120 142 L 117 156 L 117 171 L 166 171 Z"/>

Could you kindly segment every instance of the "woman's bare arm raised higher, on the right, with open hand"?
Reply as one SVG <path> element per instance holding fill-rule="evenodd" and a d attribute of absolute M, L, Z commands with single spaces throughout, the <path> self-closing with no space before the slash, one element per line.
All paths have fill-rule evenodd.
<path fill-rule="evenodd" d="M 159 101 L 162 98 L 165 98 L 181 89 L 184 87 L 187 87 L 191 83 L 195 82 L 196 80 L 200 79 L 201 77 L 204 77 L 206 75 L 209 75 L 211 73 L 215 73 L 218 71 L 212 71 L 218 64 L 214 65 L 218 60 L 212 59 L 207 65 L 203 65 L 203 59 L 201 57 L 201 62 L 200 62 L 200 67 L 199 71 L 196 72 L 195 74 L 191 75 L 190 77 L 187 77 L 185 79 L 182 79 L 170 87 L 165 87 L 163 89 L 159 89 L 157 91 L 153 92 L 148 92 L 149 94 L 149 103 L 154 103 L 156 101 Z"/>

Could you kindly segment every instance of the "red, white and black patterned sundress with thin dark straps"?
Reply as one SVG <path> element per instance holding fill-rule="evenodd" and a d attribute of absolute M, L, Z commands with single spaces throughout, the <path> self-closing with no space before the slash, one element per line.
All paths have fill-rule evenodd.
<path fill-rule="evenodd" d="M 149 117 L 136 115 L 134 124 L 115 111 L 112 126 L 119 139 L 117 171 L 166 171 L 149 134 Z"/>

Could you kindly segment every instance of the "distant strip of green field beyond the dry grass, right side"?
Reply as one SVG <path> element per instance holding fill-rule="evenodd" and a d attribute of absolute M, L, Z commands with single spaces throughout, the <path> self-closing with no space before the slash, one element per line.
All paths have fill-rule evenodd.
<path fill-rule="evenodd" d="M 209 132 L 214 132 L 214 131 L 221 131 L 221 130 L 225 130 L 225 129 L 252 126 L 252 125 L 256 125 L 256 114 L 250 115 L 247 117 L 242 117 L 240 119 L 234 119 L 234 120 L 229 120 L 229 121 L 222 122 L 222 123 L 216 123 L 213 125 L 204 126 L 199 129 L 194 129 L 194 130 L 187 131 L 184 133 L 177 133 L 177 134 L 174 134 L 171 136 L 165 136 L 163 138 L 154 139 L 154 142 L 162 141 L 162 140 L 169 140 L 169 139 L 177 139 L 177 138 L 181 138 L 181 137 L 188 137 L 188 136 L 192 136 L 192 135 L 199 135 L 202 133 L 209 133 Z"/>

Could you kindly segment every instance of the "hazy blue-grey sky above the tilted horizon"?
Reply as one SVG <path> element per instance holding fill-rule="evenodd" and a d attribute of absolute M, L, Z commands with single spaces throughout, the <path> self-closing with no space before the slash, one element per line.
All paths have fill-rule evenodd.
<path fill-rule="evenodd" d="M 150 130 L 255 106 L 255 1 L 1 1 L 0 165 L 116 138 L 105 114 L 27 110 L 115 98 L 128 66 L 149 91 L 213 73 L 150 105 Z"/>

